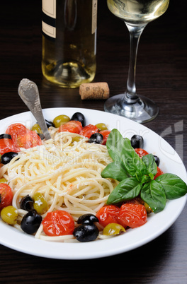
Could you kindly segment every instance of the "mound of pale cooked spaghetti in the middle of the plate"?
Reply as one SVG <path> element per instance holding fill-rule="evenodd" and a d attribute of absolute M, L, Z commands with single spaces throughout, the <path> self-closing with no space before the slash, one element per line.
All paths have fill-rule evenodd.
<path fill-rule="evenodd" d="M 106 146 L 87 143 L 88 138 L 69 132 L 58 132 L 50 127 L 52 139 L 42 146 L 21 149 L 11 162 L 1 167 L 13 189 L 13 206 L 19 219 L 26 211 L 20 209 L 23 196 L 40 192 L 47 201 L 48 212 L 67 211 L 76 222 L 80 215 L 96 214 L 106 204 L 109 194 L 118 184 L 114 179 L 101 177 L 102 170 L 112 162 Z M 21 230 L 19 222 L 14 225 Z M 68 241 L 73 236 L 48 237 L 40 225 L 35 237 L 46 240 Z"/>

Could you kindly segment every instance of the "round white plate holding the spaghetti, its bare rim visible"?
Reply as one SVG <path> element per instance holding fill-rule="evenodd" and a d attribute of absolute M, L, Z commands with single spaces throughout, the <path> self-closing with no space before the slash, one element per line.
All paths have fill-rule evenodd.
<path fill-rule="evenodd" d="M 97 110 L 75 109 L 75 108 L 52 108 L 43 110 L 45 119 L 52 120 L 59 114 L 67 114 L 72 117 L 74 112 L 81 112 L 86 117 L 86 124 L 97 124 L 103 122 L 110 129 L 117 128 L 123 137 L 130 138 L 133 134 L 140 134 L 145 139 L 145 150 L 157 154 L 161 160 L 160 166 L 164 172 L 179 175 L 183 181 L 187 181 L 186 169 L 169 143 L 159 135 L 142 124 L 137 124 L 129 119 L 119 117 Z M 21 122 L 30 127 L 35 119 L 30 112 L 16 114 L 1 120 L 0 134 L 4 133 L 9 124 Z M 164 129 L 163 129 L 164 130 Z M 174 201 L 167 201 L 164 211 L 152 214 L 145 225 L 136 229 L 128 230 L 124 235 L 111 239 L 101 239 L 87 243 L 61 243 L 45 242 L 26 233 L 16 230 L 10 225 L 0 222 L 0 242 L 6 247 L 16 249 L 19 252 L 33 254 L 52 259 L 94 259 L 103 256 L 111 256 L 128 252 L 131 249 L 152 241 L 162 235 L 179 217 L 186 203 L 186 196 Z"/>

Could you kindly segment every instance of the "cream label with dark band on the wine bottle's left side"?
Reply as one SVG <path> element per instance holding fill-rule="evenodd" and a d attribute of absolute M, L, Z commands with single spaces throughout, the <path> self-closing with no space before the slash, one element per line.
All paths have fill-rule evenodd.
<path fill-rule="evenodd" d="M 56 0 L 42 0 L 42 33 L 56 38 Z"/>

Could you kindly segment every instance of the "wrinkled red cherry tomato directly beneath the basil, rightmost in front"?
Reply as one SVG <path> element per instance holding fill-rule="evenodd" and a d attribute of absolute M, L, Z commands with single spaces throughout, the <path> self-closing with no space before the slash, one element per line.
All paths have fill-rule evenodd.
<path fill-rule="evenodd" d="M 120 207 L 120 225 L 140 227 L 147 222 L 147 211 L 142 204 L 125 203 Z"/>

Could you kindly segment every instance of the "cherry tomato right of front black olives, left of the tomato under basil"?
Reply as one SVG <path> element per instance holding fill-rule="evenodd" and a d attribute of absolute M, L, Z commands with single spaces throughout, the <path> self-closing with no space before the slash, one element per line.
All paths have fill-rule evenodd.
<path fill-rule="evenodd" d="M 119 223 L 119 212 L 120 208 L 118 206 L 103 206 L 98 213 L 96 213 L 96 217 L 98 218 L 99 224 L 106 227 L 106 225 L 110 223 Z"/>

